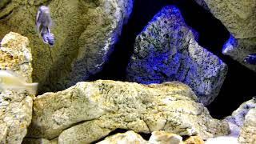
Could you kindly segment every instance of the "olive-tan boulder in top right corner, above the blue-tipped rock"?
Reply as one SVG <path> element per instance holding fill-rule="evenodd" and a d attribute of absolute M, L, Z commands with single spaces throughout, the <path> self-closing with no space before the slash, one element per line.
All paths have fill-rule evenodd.
<path fill-rule="evenodd" d="M 254 0 L 195 0 L 218 18 L 234 38 L 256 37 L 256 2 Z M 206 5 L 206 6 L 205 6 Z"/>

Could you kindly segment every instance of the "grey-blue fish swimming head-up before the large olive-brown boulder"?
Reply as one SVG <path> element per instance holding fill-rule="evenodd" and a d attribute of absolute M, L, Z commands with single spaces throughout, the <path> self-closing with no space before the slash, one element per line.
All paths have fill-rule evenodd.
<path fill-rule="evenodd" d="M 51 26 L 50 9 L 47 6 L 40 6 L 36 18 L 36 26 L 44 43 L 54 46 L 54 34 L 50 33 Z"/>

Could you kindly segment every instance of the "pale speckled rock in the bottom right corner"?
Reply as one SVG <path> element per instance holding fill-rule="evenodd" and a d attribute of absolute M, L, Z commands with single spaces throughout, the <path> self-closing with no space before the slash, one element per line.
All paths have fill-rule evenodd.
<path fill-rule="evenodd" d="M 246 114 L 238 141 L 240 143 L 256 142 L 256 108 L 249 110 Z"/>

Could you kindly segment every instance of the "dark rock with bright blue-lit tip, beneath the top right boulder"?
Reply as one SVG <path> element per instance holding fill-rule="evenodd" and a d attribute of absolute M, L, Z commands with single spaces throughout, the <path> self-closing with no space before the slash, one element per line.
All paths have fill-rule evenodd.
<path fill-rule="evenodd" d="M 222 54 L 230 55 L 234 60 L 256 72 L 256 65 L 244 62 L 248 54 L 256 54 L 256 37 L 239 39 L 231 35 L 223 46 Z"/>

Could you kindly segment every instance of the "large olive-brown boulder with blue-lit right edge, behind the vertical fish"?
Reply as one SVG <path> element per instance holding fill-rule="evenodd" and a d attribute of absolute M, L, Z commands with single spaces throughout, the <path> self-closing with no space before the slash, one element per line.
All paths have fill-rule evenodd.
<path fill-rule="evenodd" d="M 102 69 L 133 0 L 12 0 L 0 11 L 0 39 L 11 31 L 30 39 L 33 79 L 41 90 L 64 90 Z M 0 3 L 2 4 L 2 3 Z M 50 7 L 55 35 L 52 48 L 35 31 L 39 6 Z M 44 84 L 42 86 L 42 83 Z"/>

